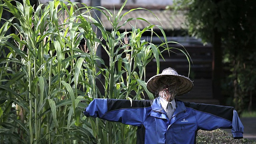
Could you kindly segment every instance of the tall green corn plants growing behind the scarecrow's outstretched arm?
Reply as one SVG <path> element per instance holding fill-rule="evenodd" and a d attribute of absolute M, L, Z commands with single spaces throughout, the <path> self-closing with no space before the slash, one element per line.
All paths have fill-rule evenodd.
<path fill-rule="evenodd" d="M 148 23 L 140 30 L 131 25 L 130 32 L 120 33 L 131 20 L 147 22 L 122 21 L 129 12 L 146 10 L 122 14 L 126 2 L 113 14 L 69 1 L 54 0 L 35 9 L 29 0 L 11 1 L 0 3 L 0 16 L 3 10 L 14 16 L 1 19 L 0 143 L 134 144 L 136 127 L 86 118 L 82 112 L 94 98 L 154 98 L 146 90 L 146 66 L 155 58 L 159 73 L 161 52 L 172 49 L 161 26 Z M 106 16 L 112 31 L 92 18 L 94 10 Z M 16 32 L 7 35 L 11 27 Z M 141 39 L 148 31 L 158 36 L 153 28 L 164 36 L 160 45 Z M 99 48 L 109 61 L 96 55 Z"/>

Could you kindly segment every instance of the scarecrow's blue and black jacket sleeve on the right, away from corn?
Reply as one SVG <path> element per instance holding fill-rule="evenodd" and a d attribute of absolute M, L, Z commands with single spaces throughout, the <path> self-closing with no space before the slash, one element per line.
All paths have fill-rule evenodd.
<path fill-rule="evenodd" d="M 243 138 L 244 126 L 233 107 L 190 104 L 190 108 L 196 110 L 195 117 L 199 129 L 215 130 L 217 128 L 232 128 L 233 138 Z"/>

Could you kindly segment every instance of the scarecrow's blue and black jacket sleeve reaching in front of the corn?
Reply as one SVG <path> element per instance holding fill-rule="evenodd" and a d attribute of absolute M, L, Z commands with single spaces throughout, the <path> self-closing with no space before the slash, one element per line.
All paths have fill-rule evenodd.
<path fill-rule="evenodd" d="M 132 100 L 131 104 L 130 100 L 96 98 L 85 108 L 84 115 L 140 126 L 150 110 L 151 105 L 147 100 Z"/>

